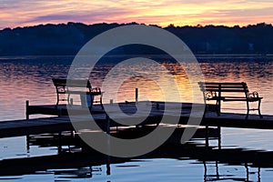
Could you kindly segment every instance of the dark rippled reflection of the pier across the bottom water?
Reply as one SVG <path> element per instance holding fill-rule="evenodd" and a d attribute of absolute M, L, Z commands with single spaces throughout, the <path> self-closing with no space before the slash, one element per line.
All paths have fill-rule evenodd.
<path fill-rule="evenodd" d="M 186 145 L 166 144 L 157 150 L 136 159 L 174 158 L 177 160 L 194 159 L 199 161 L 200 170 L 203 169 L 204 181 L 239 180 L 248 181 L 249 177 L 256 177 L 260 181 L 260 168 L 273 167 L 273 152 L 247 151 L 244 149 L 215 149 L 194 143 Z M 184 158 L 184 159 L 183 159 Z M 4 159 L 0 161 L 0 176 L 19 176 L 35 174 L 36 171 L 53 171 L 55 175 L 73 175 L 75 177 L 89 177 L 96 175 L 112 175 L 111 165 L 123 164 L 130 167 L 134 158 L 106 157 L 93 150 L 88 152 L 60 153 L 45 157 L 26 157 Z M 239 174 L 230 174 L 221 170 L 222 167 L 238 168 Z M 104 167 L 105 166 L 105 167 Z M 101 167 L 105 169 L 102 170 Z M 73 169 L 73 170 L 72 170 Z M 183 169 L 183 168 L 182 168 Z M 105 171 L 105 172 L 104 172 Z M 256 171 L 256 172 L 253 172 Z M 106 174 L 102 174 L 106 173 Z"/>

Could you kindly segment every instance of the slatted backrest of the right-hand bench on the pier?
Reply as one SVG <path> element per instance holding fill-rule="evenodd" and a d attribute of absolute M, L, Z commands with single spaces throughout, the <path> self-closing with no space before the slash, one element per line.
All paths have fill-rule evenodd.
<path fill-rule="evenodd" d="M 203 92 L 243 92 L 248 94 L 248 86 L 245 82 L 199 82 Z"/>

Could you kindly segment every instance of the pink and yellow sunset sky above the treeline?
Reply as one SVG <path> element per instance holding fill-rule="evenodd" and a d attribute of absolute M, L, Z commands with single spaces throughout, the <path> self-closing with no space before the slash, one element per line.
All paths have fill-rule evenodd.
<path fill-rule="evenodd" d="M 273 23 L 272 0 L 0 0 L 0 29 L 67 22 L 174 25 Z"/>

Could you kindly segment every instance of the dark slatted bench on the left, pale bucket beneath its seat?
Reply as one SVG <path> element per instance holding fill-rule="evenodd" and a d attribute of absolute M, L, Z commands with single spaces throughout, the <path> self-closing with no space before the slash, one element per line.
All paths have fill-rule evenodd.
<path fill-rule="evenodd" d="M 102 106 L 102 92 L 100 88 L 92 88 L 88 79 L 52 78 L 52 81 L 54 86 L 56 86 L 56 106 L 58 106 L 60 101 L 67 101 L 68 105 L 73 105 L 73 101 L 70 99 L 71 95 L 81 96 L 82 105 L 87 104 L 87 106 L 92 107 L 94 102 L 99 102 Z M 61 95 L 65 97 L 61 98 Z M 90 96 L 90 103 L 83 103 L 88 100 L 86 96 Z M 99 101 L 94 101 L 95 96 L 99 96 Z"/>

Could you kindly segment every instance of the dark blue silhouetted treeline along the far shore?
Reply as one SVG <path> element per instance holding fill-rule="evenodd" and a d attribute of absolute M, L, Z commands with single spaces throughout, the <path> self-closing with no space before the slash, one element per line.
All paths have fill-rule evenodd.
<path fill-rule="evenodd" d="M 5 28 L 0 31 L 0 56 L 76 55 L 92 37 L 121 25 L 136 23 L 67 23 Z M 273 53 L 273 26 L 265 23 L 243 27 L 168 25 L 164 29 L 180 37 L 195 54 Z"/>

